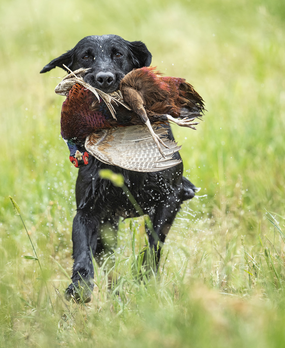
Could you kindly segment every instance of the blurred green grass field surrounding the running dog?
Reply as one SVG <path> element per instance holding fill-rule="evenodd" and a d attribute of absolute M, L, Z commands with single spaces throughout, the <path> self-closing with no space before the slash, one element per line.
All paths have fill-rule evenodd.
<path fill-rule="evenodd" d="M 0 18 L 0 346 L 283 346 L 283 2 L 6 0 Z M 62 299 L 77 175 L 53 92 L 64 72 L 39 71 L 107 33 L 145 42 L 152 65 L 205 100 L 197 131 L 174 127 L 184 174 L 201 190 L 169 232 L 159 276 L 138 280 L 142 221 L 121 222 L 109 270 L 120 296 L 96 268 L 92 302 L 78 307 Z M 35 255 L 9 195 L 42 272 L 24 258 Z"/>

